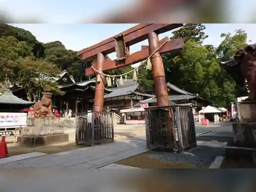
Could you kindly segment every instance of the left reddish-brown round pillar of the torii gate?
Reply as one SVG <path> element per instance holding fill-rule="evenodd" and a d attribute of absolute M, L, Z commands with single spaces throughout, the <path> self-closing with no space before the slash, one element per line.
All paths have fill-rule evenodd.
<path fill-rule="evenodd" d="M 105 56 L 102 53 L 97 54 L 97 67 L 96 70 L 102 73 L 102 66 Z M 101 75 L 101 81 L 96 82 L 95 96 L 94 96 L 94 112 L 102 112 L 104 102 L 104 75 Z"/>

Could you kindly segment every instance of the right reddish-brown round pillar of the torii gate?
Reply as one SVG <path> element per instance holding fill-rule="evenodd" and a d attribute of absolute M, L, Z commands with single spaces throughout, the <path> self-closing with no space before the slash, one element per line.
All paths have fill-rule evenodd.
<path fill-rule="evenodd" d="M 159 38 L 155 32 L 148 33 L 148 44 L 150 54 L 152 54 L 159 48 L 158 42 Z M 166 88 L 163 60 L 159 51 L 152 55 L 151 62 L 155 84 L 155 95 L 157 97 L 157 106 L 168 106 L 169 99 Z"/>

